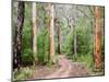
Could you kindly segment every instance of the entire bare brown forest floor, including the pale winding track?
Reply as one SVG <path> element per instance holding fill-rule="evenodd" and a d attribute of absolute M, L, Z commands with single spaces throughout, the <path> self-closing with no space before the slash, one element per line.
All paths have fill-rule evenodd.
<path fill-rule="evenodd" d="M 70 78 L 70 77 L 87 77 L 90 71 L 84 62 L 72 62 L 65 55 L 58 56 L 59 67 L 47 66 L 36 67 L 33 79 L 55 79 L 55 78 Z"/>

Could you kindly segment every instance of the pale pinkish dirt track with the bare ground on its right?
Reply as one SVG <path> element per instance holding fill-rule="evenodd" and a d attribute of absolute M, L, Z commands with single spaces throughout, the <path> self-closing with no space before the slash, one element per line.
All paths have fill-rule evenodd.
<path fill-rule="evenodd" d="M 57 71 L 45 77 L 45 79 L 85 77 L 89 74 L 86 65 L 82 62 L 72 62 L 65 56 L 59 57 L 59 66 L 60 68 Z"/>

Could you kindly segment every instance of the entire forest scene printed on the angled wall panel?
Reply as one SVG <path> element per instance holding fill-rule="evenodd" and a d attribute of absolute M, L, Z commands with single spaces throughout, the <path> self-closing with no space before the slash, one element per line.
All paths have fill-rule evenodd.
<path fill-rule="evenodd" d="M 105 74 L 105 7 L 12 2 L 12 80 Z"/>

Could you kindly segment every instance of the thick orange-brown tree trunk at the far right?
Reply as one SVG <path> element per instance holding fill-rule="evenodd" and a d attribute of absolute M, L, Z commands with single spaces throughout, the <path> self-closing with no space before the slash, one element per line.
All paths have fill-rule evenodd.
<path fill-rule="evenodd" d="M 100 26 L 100 7 L 95 8 L 96 31 L 95 31 L 95 66 L 97 70 L 101 69 L 101 26 Z"/>

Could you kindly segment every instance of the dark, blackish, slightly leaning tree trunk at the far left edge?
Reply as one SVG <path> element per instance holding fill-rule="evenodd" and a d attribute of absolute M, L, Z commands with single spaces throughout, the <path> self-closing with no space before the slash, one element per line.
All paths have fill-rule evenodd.
<path fill-rule="evenodd" d="M 23 23 L 24 23 L 24 2 L 19 1 L 19 8 L 17 8 L 17 26 L 15 31 L 15 49 L 14 49 L 14 67 L 19 68 L 21 67 L 21 49 L 22 49 L 22 30 L 23 30 Z"/>

